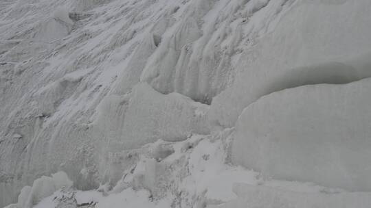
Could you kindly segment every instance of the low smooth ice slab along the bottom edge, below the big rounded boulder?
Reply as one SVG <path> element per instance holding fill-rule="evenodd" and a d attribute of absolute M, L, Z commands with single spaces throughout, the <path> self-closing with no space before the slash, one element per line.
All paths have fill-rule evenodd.
<path fill-rule="evenodd" d="M 210 205 L 207 208 L 366 208 L 370 207 L 371 204 L 369 192 L 304 193 L 243 183 L 235 184 L 234 192 L 238 196 L 235 200 L 220 206 Z"/>

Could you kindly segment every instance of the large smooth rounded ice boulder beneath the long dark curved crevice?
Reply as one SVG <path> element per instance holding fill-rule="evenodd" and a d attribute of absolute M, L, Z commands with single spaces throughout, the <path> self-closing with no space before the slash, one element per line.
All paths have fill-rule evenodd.
<path fill-rule="evenodd" d="M 236 124 L 232 159 L 274 179 L 371 190 L 371 79 L 262 97 Z"/>

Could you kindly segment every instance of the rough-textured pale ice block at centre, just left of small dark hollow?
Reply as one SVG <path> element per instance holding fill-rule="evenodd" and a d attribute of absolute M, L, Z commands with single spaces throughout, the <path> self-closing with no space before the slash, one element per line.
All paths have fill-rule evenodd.
<path fill-rule="evenodd" d="M 111 152 L 139 148 L 159 139 L 185 140 L 191 133 L 209 132 L 205 114 L 195 113 L 208 107 L 193 103 L 181 94 L 160 94 L 141 83 L 133 88 L 129 100 L 125 96 L 107 96 L 99 106 L 100 114 L 93 127 L 112 138 L 108 144 Z"/>

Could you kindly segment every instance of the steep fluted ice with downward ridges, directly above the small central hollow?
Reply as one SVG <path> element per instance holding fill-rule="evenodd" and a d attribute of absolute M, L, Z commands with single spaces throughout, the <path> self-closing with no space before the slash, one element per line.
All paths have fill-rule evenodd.
<path fill-rule="evenodd" d="M 192 3 L 194 7 L 185 12 L 181 21 L 164 32 L 141 80 L 159 92 L 175 91 L 210 103 L 232 82 L 231 59 L 240 54 L 241 38 L 247 35 L 241 31 L 240 22 L 261 2 L 251 1 L 245 6 L 243 1 Z M 232 13 L 234 18 L 228 18 Z M 200 21 L 204 22 L 201 27 Z"/>

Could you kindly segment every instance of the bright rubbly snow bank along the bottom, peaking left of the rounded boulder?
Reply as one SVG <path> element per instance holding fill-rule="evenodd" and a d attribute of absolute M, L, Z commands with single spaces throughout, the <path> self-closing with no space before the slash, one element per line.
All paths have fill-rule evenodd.
<path fill-rule="evenodd" d="M 115 187 L 91 191 L 64 188 L 34 207 L 367 207 L 370 204 L 369 192 L 264 179 L 258 172 L 227 164 L 233 132 L 234 129 L 228 129 L 212 136 L 193 135 L 181 142 L 146 144 L 137 151 L 140 158 L 135 165 L 123 170 L 124 176 Z M 153 155 L 159 146 L 173 152 L 159 160 Z M 25 187 L 23 192 L 30 189 Z"/>

